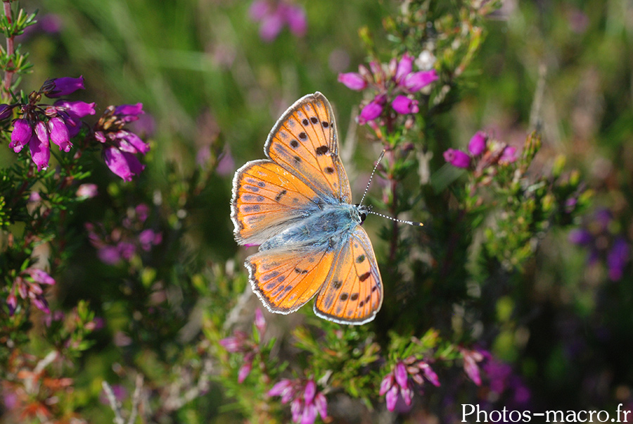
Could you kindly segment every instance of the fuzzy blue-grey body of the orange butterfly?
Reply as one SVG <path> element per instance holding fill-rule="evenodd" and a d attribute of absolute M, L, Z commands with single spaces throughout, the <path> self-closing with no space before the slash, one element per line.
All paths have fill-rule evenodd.
<path fill-rule="evenodd" d="M 260 251 L 290 246 L 324 246 L 333 249 L 362 223 L 365 213 L 364 206 L 347 203 L 324 204 L 320 209 L 295 221 L 286 230 L 264 242 L 260 246 Z"/>

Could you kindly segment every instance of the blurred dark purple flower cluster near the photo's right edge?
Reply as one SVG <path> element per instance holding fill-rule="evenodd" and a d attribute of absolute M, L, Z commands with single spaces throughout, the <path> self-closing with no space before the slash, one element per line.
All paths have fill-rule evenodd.
<path fill-rule="evenodd" d="M 606 264 L 610 280 L 622 279 L 631 261 L 631 249 L 625 235 L 613 231 L 613 215 L 607 209 L 599 209 L 580 228 L 572 230 L 569 240 L 587 249 L 587 265 Z"/>

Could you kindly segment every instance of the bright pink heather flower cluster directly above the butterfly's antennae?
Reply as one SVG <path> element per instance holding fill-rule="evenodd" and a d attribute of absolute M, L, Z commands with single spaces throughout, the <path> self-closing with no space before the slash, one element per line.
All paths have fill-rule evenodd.
<path fill-rule="evenodd" d="M 378 120 L 388 104 L 400 115 L 420 111 L 414 94 L 436 81 L 438 76 L 434 69 L 414 72 L 413 63 L 413 56 L 404 54 L 399 61 L 396 58 L 388 64 L 373 61 L 369 63 L 369 69 L 361 65 L 358 73 L 338 75 L 338 81 L 349 89 L 361 91 L 371 87 L 376 92 L 373 99 L 362 108 L 359 124 Z"/>

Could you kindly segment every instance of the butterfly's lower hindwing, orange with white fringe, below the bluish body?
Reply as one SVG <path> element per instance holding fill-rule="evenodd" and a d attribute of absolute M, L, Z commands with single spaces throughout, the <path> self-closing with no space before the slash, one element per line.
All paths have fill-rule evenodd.
<path fill-rule="evenodd" d="M 272 312 L 290 313 L 305 305 L 321 288 L 332 268 L 331 249 L 278 249 L 246 259 L 250 283 Z"/>

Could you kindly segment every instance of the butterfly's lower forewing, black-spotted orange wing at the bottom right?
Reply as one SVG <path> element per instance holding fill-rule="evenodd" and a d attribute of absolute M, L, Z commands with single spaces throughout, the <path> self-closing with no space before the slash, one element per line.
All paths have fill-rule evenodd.
<path fill-rule="evenodd" d="M 358 226 L 340 247 L 334 269 L 314 301 L 314 313 L 342 324 L 373 320 L 383 303 L 383 283 L 371 241 Z"/>

